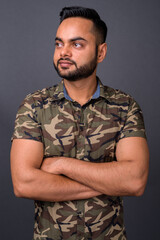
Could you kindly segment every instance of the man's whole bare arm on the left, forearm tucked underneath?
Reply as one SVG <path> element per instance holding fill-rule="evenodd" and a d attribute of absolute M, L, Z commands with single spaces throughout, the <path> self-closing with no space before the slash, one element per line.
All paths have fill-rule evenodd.
<path fill-rule="evenodd" d="M 17 197 L 42 201 L 86 199 L 97 191 L 64 176 L 40 169 L 43 144 L 38 141 L 14 139 L 11 148 L 11 172 Z"/>

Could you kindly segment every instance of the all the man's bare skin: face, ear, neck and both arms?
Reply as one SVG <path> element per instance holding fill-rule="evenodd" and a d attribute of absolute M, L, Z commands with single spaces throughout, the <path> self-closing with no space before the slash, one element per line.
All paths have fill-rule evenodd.
<path fill-rule="evenodd" d="M 67 76 L 93 60 L 96 44 L 90 20 L 65 19 L 56 34 L 54 64 L 57 65 L 61 58 L 69 59 L 61 61 L 58 66 L 61 74 Z M 97 64 L 103 61 L 106 51 L 106 43 L 98 45 Z M 76 64 L 71 64 L 73 62 Z M 81 105 L 96 90 L 96 70 L 87 78 L 76 81 L 64 79 L 69 96 Z M 117 162 L 110 163 L 75 161 L 64 157 L 46 158 L 43 161 L 42 143 L 15 139 L 11 148 L 15 195 L 43 201 L 87 199 L 100 194 L 142 195 L 149 166 L 146 140 L 141 137 L 120 140 L 116 157 Z"/>

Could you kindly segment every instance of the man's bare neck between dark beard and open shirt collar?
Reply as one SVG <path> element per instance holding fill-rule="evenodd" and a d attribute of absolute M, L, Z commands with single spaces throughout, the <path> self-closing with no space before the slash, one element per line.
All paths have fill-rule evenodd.
<path fill-rule="evenodd" d="M 96 75 L 74 82 L 64 79 L 64 85 L 68 95 L 80 105 L 88 102 L 97 88 Z"/>

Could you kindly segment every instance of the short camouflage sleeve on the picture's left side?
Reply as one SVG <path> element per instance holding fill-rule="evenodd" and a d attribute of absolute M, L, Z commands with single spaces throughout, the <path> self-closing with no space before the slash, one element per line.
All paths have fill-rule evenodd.
<path fill-rule="evenodd" d="M 28 95 L 20 105 L 16 120 L 13 139 L 31 139 L 42 142 L 41 124 L 37 121 L 34 99 Z"/>

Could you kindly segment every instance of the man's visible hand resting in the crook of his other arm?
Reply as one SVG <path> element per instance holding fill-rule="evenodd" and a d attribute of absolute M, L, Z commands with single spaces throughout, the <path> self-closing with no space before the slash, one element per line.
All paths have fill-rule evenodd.
<path fill-rule="evenodd" d="M 61 174 L 60 173 L 60 157 L 52 157 L 52 158 L 45 158 L 41 165 L 41 170 L 53 173 L 53 174 Z"/>

